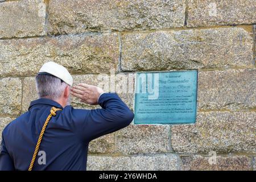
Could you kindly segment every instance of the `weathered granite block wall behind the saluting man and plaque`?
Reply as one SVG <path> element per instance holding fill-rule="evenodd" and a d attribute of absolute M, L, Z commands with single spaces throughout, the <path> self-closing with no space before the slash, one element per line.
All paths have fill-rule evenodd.
<path fill-rule="evenodd" d="M 46 61 L 94 85 L 196 69 L 195 124 L 131 124 L 90 143 L 88 169 L 255 170 L 255 12 L 249 0 L 0 0 L 0 129 L 36 99 Z M 133 92 L 119 94 L 133 109 Z"/>

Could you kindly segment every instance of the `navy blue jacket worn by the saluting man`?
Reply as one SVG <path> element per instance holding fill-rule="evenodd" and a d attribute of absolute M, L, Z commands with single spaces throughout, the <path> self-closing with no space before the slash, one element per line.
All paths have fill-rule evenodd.
<path fill-rule="evenodd" d="M 39 151 L 46 152 L 46 164 L 36 157 L 32 170 L 86 170 L 91 140 L 128 126 L 134 114 L 114 93 L 100 96 L 102 109 L 61 107 L 47 98 L 32 101 L 28 111 L 5 127 L 2 133 L 0 170 L 27 170 L 36 142 L 51 107 L 57 111 L 46 127 Z"/>

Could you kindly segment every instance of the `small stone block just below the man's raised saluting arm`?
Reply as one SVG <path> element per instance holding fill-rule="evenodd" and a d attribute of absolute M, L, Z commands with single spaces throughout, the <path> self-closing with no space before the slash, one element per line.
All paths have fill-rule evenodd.
<path fill-rule="evenodd" d="M 111 133 L 94 139 L 89 143 L 89 154 L 113 154 L 115 152 L 115 134 Z"/>

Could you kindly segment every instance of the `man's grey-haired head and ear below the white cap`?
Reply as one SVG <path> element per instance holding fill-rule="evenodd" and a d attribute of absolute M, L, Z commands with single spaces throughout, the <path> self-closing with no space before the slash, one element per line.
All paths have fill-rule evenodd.
<path fill-rule="evenodd" d="M 60 98 L 64 92 L 67 83 L 61 81 L 60 78 L 51 75 L 38 75 L 36 76 L 36 92 L 39 98 L 48 96 L 52 100 Z"/>

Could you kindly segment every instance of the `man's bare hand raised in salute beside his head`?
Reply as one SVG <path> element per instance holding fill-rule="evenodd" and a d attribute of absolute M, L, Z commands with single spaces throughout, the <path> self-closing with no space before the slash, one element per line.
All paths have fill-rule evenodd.
<path fill-rule="evenodd" d="M 89 105 L 97 105 L 100 94 L 104 93 L 101 88 L 88 84 L 78 84 L 71 88 L 71 94 Z"/>

